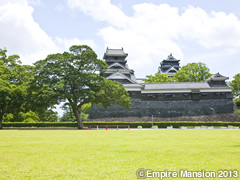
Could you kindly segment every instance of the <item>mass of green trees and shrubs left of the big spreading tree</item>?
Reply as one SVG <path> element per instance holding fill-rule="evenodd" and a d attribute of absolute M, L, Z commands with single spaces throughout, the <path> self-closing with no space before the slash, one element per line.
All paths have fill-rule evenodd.
<path fill-rule="evenodd" d="M 22 65 L 18 55 L 0 49 L 0 128 L 2 122 L 57 121 L 49 106 L 36 104 L 31 88 L 34 66 Z"/>

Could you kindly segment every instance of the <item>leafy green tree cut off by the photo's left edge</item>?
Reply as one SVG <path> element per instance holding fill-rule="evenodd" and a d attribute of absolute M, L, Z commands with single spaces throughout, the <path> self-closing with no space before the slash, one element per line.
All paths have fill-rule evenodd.
<path fill-rule="evenodd" d="M 7 56 L 6 52 L 0 49 L 0 128 L 4 115 L 14 116 L 22 110 L 31 78 L 31 66 L 21 65 L 18 55 Z"/>

